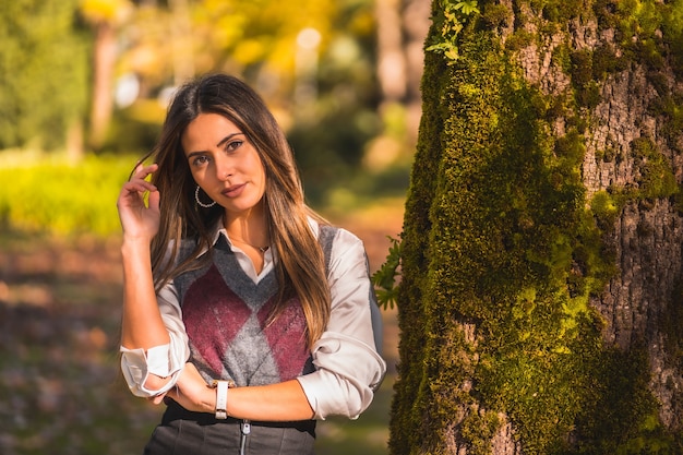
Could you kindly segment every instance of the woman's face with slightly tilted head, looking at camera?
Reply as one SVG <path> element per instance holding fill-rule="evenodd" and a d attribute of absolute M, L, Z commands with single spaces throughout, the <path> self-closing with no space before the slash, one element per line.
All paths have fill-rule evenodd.
<path fill-rule="evenodd" d="M 262 208 L 265 169 L 235 123 L 218 113 L 200 113 L 188 124 L 181 144 L 194 181 L 228 217 Z"/>

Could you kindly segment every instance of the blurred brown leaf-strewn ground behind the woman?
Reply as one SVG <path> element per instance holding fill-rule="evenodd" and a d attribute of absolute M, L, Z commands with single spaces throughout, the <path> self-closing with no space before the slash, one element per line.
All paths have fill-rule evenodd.
<path fill-rule="evenodd" d="M 331 219 L 384 261 L 402 207 Z M 133 397 L 118 368 L 120 239 L 0 231 L 0 453 L 141 453 L 161 408 Z M 357 421 L 319 424 L 321 455 L 386 453 L 396 364 L 395 311 L 384 311 L 390 374 Z"/>

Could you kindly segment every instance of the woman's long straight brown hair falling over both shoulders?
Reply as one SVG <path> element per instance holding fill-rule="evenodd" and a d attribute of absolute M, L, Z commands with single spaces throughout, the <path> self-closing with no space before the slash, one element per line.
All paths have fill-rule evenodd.
<path fill-rule="evenodd" d="M 209 258 L 212 232 L 224 214 L 218 204 L 195 204 L 196 183 L 181 146 L 188 124 L 200 113 L 218 113 L 235 123 L 254 145 L 265 168 L 264 207 L 272 247 L 277 252 L 275 271 L 278 303 L 271 320 L 287 300 L 298 296 L 307 320 L 308 343 L 320 338 L 329 319 L 331 296 L 320 243 L 311 231 L 309 216 L 323 218 L 304 202 L 293 154 L 284 132 L 261 97 L 242 81 L 226 74 L 199 77 L 175 95 L 153 157 L 158 170 L 152 177 L 160 195 L 159 231 L 152 242 L 152 268 L 157 290 L 168 280 L 201 267 Z M 181 241 L 191 238 L 196 247 L 178 261 Z M 170 248 L 169 248 L 170 246 Z"/>

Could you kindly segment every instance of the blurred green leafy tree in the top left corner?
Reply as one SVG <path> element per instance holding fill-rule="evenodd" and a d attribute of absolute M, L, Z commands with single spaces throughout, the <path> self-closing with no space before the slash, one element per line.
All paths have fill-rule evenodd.
<path fill-rule="evenodd" d="M 76 8 L 77 0 L 0 3 L 0 148 L 82 153 L 88 36 Z"/>

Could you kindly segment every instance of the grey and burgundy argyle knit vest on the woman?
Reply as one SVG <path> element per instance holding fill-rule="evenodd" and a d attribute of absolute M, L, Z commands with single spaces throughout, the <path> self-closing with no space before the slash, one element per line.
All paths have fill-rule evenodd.
<path fill-rule="evenodd" d="M 335 231 L 335 227 L 321 227 L 326 258 Z M 190 339 L 190 361 L 205 380 L 265 385 L 314 371 L 299 299 L 289 299 L 268 324 L 278 290 L 275 271 L 255 284 L 225 236 L 219 236 L 207 266 L 178 276 L 175 285 Z"/>

